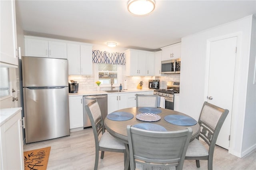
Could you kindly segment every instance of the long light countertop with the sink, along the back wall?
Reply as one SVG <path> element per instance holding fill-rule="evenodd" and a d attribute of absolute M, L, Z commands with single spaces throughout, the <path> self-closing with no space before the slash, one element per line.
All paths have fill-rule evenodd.
<path fill-rule="evenodd" d="M 91 96 L 91 95 L 109 95 L 115 93 L 136 93 L 136 92 L 146 92 L 146 91 L 154 91 L 154 89 L 130 89 L 130 90 L 122 90 L 125 92 L 114 92 L 108 93 L 106 91 L 78 91 L 78 93 L 68 93 L 69 96 Z"/>

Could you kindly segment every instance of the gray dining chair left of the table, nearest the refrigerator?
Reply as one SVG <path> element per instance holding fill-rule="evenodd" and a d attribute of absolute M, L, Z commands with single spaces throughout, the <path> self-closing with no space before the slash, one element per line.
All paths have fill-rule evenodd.
<path fill-rule="evenodd" d="M 128 159 L 126 158 L 126 146 L 123 142 L 117 140 L 109 132 L 105 132 L 104 123 L 102 120 L 100 107 L 98 105 L 97 99 L 85 105 L 85 109 L 88 113 L 88 117 L 92 124 L 92 131 L 94 134 L 95 140 L 95 163 L 94 170 L 98 169 L 98 161 L 99 161 L 99 151 L 101 151 L 100 158 L 103 159 L 104 151 L 109 152 L 122 152 L 124 153 L 124 169 L 127 169 Z M 100 137 L 100 133 L 102 133 Z M 128 148 L 127 148 L 128 149 Z M 126 165 L 126 164 L 127 165 Z"/>

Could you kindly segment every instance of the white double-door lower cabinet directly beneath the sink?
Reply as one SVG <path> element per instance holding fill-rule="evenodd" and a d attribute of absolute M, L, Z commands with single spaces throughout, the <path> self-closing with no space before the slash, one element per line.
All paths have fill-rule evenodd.
<path fill-rule="evenodd" d="M 108 114 L 128 107 L 127 93 L 108 94 Z"/>

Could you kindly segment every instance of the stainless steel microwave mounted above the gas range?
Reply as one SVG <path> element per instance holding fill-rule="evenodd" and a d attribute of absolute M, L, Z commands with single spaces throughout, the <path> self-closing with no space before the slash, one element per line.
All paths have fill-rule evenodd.
<path fill-rule="evenodd" d="M 162 61 L 161 73 L 162 74 L 180 73 L 180 58 Z"/>

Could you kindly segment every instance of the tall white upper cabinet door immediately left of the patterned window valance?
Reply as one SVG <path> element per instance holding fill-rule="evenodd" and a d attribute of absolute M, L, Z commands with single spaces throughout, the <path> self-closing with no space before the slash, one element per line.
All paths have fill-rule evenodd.
<path fill-rule="evenodd" d="M 81 75 L 92 75 L 92 46 L 80 45 Z"/>

